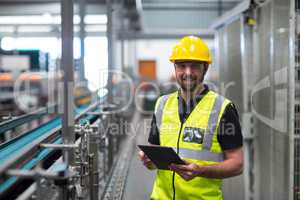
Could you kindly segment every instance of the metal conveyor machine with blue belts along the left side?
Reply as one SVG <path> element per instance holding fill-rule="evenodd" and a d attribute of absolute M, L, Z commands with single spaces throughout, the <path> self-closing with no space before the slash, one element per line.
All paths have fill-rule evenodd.
<path fill-rule="evenodd" d="M 111 124 L 124 122 L 122 115 L 112 114 L 114 108 L 97 100 L 74 110 L 74 145 L 62 144 L 62 119 L 55 114 L 55 105 L 2 122 L 1 136 L 48 118 L 0 145 L 0 199 L 113 199 L 122 195 L 133 145 L 126 144 L 118 153 L 130 140 L 124 137 L 123 126 L 118 134 L 111 130 Z M 62 159 L 65 151 L 73 152 L 69 168 Z"/>

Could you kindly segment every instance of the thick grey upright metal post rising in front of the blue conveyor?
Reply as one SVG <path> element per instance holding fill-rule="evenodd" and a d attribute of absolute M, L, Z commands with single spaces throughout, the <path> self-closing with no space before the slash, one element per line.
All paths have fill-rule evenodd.
<path fill-rule="evenodd" d="M 63 69 L 63 114 L 62 114 L 62 137 L 64 144 L 73 144 L 74 135 L 74 114 L 73 114 L 73 0 L 61 1 L 61 28 L 62 28 L 62 58 Z M 63 159 L 67 165 L 74 161 L 73 151 L 64 151 Z"/>

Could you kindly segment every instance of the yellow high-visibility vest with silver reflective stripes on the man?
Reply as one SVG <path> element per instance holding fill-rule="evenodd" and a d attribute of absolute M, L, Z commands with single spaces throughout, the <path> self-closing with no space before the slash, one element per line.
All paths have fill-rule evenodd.
<path fill-rule="evenodd" d="M 224 155 L 217 139 L 217 129 L 225 107 L 230 103 L 223 96 L 209 91 L 186 121 L 181 123 L 178 92 L 160 97 L 155 106 L 160 145 L 172 147 L 177 152 L 178 142 L 179 156 L 195 164 L 211 165 L 222 162 Z M 170 170 L 157 170 L 151 199 L 173 199 L 173 173 Z M 175 173 L 174 185 L 176 200 L 222 199 L 222 179 L 195 177 L 185 181 Z"/>

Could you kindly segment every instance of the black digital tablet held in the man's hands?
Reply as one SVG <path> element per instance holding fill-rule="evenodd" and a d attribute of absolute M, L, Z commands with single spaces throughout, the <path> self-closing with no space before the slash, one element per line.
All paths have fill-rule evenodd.
<path fill-rule="evenodd" d="M 182 164 L 185 162 L 181 160 L 178 154 L 171 147 L 153 146 L 153 145 L 137 145 L 155 164 L 158 169 L 169 170 L 169 165 Z"/>

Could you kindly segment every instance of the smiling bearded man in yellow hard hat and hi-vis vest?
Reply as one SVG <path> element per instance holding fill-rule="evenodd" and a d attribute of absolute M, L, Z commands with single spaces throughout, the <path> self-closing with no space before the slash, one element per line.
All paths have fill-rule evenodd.
<path fill-rule="evenodd" d="M 181 39 L 170 61 L 180 90 L 156 102 L 148 141 L 173 147 L 186 163 L 157 170 L 151 199 L 220 200 L 222 179 L 243 171 L 237 111 L 203 84 L 212 60 L 200 38 Z M 142 151 L 139 156 L 148 169 L 156 168 Z"/>

